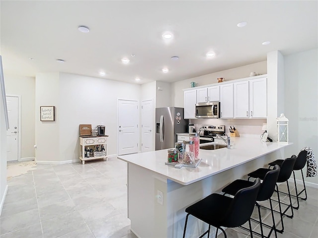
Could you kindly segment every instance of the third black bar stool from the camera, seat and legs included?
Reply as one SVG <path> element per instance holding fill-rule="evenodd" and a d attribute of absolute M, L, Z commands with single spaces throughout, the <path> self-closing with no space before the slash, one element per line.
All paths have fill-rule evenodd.
<path fill-rule="evenodd" d="M 286 182 L 287 183 L 287 189 L 288 189 L 288 195 L 289 195 L 290 204 L 286 204 L 286 203 L 283 203 L 283 202 L 280 201 L 277 182 L 276 182 L 276 191 L 277 191 L 278 201 L 272 199 L 273 201 L 278 202 L 278 205 L 279 205 L 279 213 L 280 213 L 280 217 L 281 217 L 281 221 L 282 221 L 282 229 L 278 230 L 276 228 L 276 231 L 279 232 L 279 233 L 283 233 L 284 232 L 283 215 L 285 215 L 285 216 L 287 216 L 289 218 L 293 218 L 294 217 L 294 211 L 293 211 L 293 206 L 292 206 L 292 199 L 291 199 L 291 196 L 290 196 L 288 179 L 290 178 L 290 176 L 292 174 L 293 167 L 294 167 L 294 164 L 296 162 L 296 158 L 297 157 L 295 155 L 293 155 L 291 158 L 286 158 L 283 161 L 282 165 L 280 166 L 280 172 L 279 172 L 279 175 L 278 175 L 278 178 L 277 178 L 277 182 Z M 260 169 L 258 169 L 256 171 L 252 172 L 252 173 L 249 173 L 247 176 L 249 176 L 248 179 L 250 179 L 250 178 L 259 178 L 259 179 L 264 180 L 265 175 L 266 175 L 266 173 L 268 171 L 271 171 L 271 170 L 270 169 L 266 169 L 266 168 L 260 168 Z M 287 205 L 287 208 L 285 209 L 284 212 L 282 212 L 281 204 Z M 286 215 L 286 212 L 288 211 L 289 208 L 291 208 L 292 214 L 291 215 Z"/>

